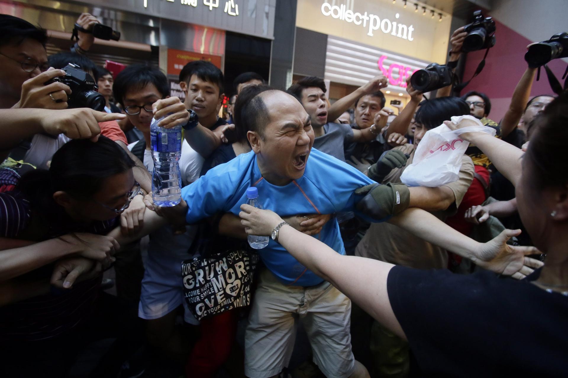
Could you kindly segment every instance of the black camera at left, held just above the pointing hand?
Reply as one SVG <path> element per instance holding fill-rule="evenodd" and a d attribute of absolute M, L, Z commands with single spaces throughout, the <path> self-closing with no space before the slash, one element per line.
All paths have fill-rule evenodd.
<path fill-rule="evenodd" d="M 97 92 L 99 88 L 90 74 L 73 63 L 66 65 L 63 70 L 65 71 L 65 76 L 55 77 L 46 82 L 45 85 L 59 81 L 69 86 L 72 91 L 71 94 L 67 96 L 69 109 L 90 107 L 93 110 L 105 110 L 106 99 L 102 94 Z"/>

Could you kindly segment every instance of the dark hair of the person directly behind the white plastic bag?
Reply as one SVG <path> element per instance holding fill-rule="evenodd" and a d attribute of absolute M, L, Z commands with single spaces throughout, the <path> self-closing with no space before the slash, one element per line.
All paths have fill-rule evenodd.
<path fill-rule="evenodd" d="M 420 107 L 414 117 L 416 123 L 420 123 L 428 130 L 440 126 L 444 121 L 460 115 L 469 115 L 467 103 L 459 97 L 438 97 L 420 102 Z"/>

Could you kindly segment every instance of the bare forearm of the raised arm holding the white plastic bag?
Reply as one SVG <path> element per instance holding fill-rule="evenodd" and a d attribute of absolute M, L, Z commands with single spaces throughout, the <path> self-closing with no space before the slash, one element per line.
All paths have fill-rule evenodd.
<path fill-rule="evenodd" d="M 481 149 L 495 168 L 514 186 L 517 185 L 521 175 L 521 149 L 484 132 L 468 132 L 461 137 Z"/>

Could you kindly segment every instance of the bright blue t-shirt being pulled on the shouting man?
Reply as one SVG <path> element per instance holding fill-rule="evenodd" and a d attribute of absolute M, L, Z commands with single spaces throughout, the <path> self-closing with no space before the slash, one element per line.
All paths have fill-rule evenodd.
<path fill-rule="evenodd" d="M 181 194 L 189 206 L 187 223 L 195 223 L 218 212 L 239 215 L 241 204 L 247 202 L 246 192 L 250 186 L 258 188 L 258 197 L 264 209 L 287 217 L 355 211 L 355 205 L 362 196 L 354 194 L 354 190 L 373 183 L 356 168 L 312 148 L 304 175 L 299 180 L 284 186 L 272 185 L 262 178 L 256 154 L 251 151 L 212 168 L 199 180 L 185 186 Z M 335 218 L 327 222 L 314 237 L 340 254 L 345 254 Z M 311 286 L 323 281 L 272 239 L 258 253 L 266 267 L 283 284 Z"/>

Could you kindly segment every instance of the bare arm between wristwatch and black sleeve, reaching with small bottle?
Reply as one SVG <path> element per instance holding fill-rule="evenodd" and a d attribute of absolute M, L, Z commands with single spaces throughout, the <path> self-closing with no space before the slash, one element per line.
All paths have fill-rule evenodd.
<path fill-rule="evenodd" d="M 306 268 L 331 283 L 399 337 L 406 338 L 387 292 L 387 277 L 394 265 L 364 257 L 342 256 L 291 226 L 280 229 L 278 240 Z"/>

